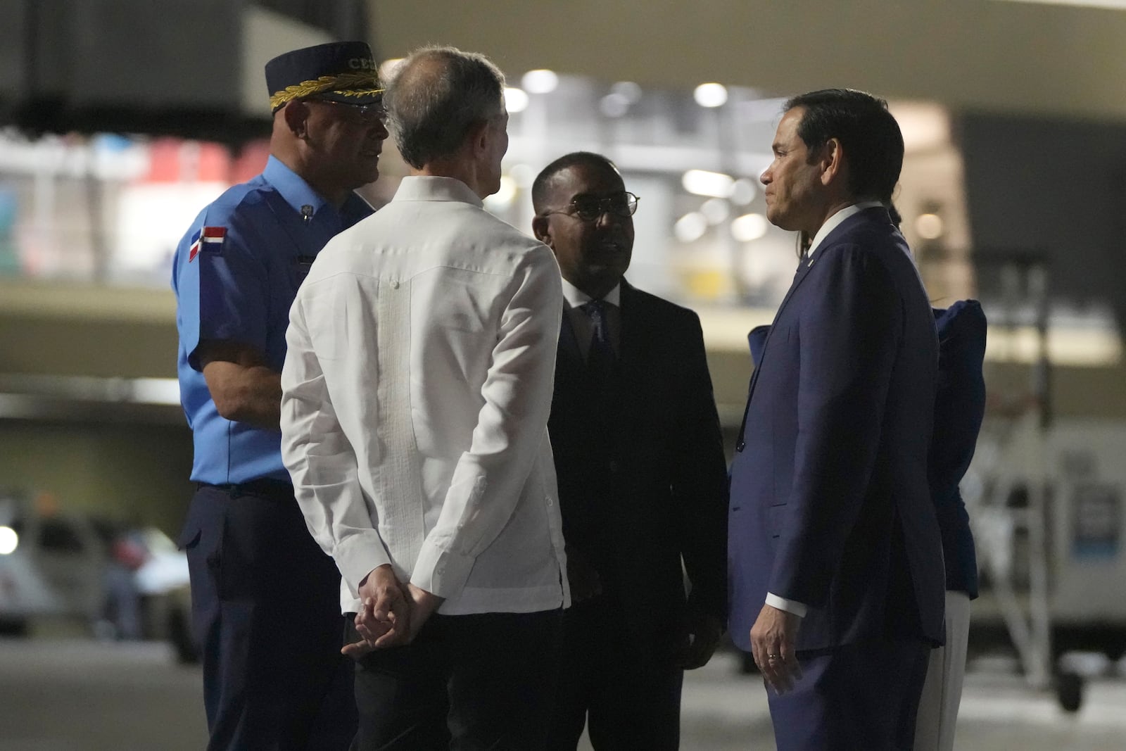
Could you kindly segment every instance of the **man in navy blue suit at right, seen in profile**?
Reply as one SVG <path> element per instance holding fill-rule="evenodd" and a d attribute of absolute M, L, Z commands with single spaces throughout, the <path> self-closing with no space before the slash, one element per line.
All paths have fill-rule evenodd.
<path fill-rule="evenodd" d="M 882 99 L 815 91 L 786 104 L 774 155 L 767 216 L 813 242 L 736 444 L 730 627 L 774 689 L 780 750 L 909 749 L 945 583 L 927 480 L 938 341 L 883 205 L 903 137 Z"/>

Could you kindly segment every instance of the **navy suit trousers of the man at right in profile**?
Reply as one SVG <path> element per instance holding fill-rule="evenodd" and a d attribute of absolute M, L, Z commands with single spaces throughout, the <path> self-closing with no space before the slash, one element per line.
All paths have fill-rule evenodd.
<path fill-rule="evenodd" d="M 910 751 L 929 655 L 921 641 L 799 654 L 795 689 L 767 689 L 778 751 Z"/>

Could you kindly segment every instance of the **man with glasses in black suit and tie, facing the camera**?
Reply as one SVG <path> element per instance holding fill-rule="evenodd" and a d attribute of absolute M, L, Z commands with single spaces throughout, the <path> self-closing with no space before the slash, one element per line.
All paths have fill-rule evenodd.
<path fill-rule="evenodd" d="M 726 471 L 695 313 L 632 287 L 637 197 L 579 152 L 533 186 L 563 275 L 548 432 L 574 605 L 552 748 L 677 749 L 685 669 L 726 615 Z M 691 591 L 686 597 L 687 572 Z"/>

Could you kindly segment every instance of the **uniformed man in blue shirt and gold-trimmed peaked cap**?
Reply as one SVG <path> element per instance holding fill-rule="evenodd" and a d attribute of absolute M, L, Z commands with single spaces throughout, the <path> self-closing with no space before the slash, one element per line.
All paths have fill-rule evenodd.
<path fill-rule="evenodd" d="M 325 242 L 372 213 L 387 131 L 372 51 L 322 44 L 266 65 L 265 171 L 204 208 L 177 249 L 180 400 L 195 436 L 181 545 L 215 749 L 346 749 L 340 575 L 310 536 L 282 463 L 289 306 Z"/>

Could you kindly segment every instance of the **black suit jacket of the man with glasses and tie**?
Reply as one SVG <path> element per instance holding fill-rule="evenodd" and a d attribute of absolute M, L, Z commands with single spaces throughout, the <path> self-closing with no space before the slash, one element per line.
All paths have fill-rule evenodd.
<path fill-rule="evenodd" d="M 726 462 L 699 319 L 624 280 L 620 303 L 607 399 L 563 315 L 548 431 L 569 549 L 592 561 L 632 636 L 663 652 L 686 604 L 726 617 Z"/>

